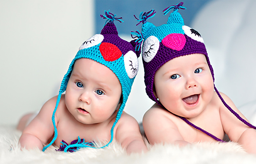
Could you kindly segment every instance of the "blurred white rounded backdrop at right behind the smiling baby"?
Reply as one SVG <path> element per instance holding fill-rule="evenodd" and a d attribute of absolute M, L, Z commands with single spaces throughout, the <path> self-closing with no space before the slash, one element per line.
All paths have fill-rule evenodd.
<path fill-rule="evenodd" d="M 204 38 L 217 89 L 238 107 L 256 100 L 255 7 L 254 0 L 211 1 L 192 25 Z"/>

